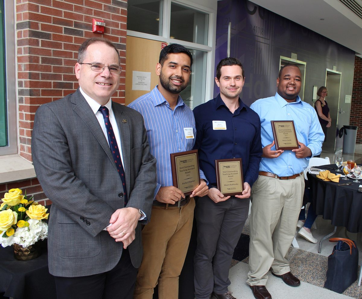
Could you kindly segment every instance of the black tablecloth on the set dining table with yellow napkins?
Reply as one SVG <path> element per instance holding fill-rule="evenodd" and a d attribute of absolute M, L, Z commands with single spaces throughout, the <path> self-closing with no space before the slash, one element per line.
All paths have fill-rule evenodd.
<path fill-rule="evenodd" d="M 337 173 L 333 169 L 335 164 L 318 166 L 319 169 L 327 169 L 332 173 Z M 324 219 L 332 221 L 333 226 L 344 226 L 349 232 L 362 232 L 362 193 L 358 192 L 358 186 L 362 185 L 362 180 L 353 182 L 349 186 L 338 186 L 345 182 L 338 183 L 323 181 L 316 177 L 316 174 L 307 174 L 311 188 L 312 204 L 317 215 L 323 215 Z"/>

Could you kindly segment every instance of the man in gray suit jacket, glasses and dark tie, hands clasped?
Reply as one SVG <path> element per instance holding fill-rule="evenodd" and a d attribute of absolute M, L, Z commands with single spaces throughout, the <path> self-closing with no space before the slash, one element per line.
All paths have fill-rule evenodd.
<path fill-rule="evenodd" d="M 89 39 L 75 65 L 80 88 L 35 114 L 32 154 L 53 202 L 48 255 L 58 299 L 133 296 L 156 160 L 142 116 L 110 100 L 120 72 L 116 47 Z"/>

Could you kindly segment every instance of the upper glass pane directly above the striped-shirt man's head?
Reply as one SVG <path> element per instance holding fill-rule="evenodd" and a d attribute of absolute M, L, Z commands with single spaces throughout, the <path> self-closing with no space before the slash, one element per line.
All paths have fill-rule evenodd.
<path fill-rule="evenodd" d="M 209 14 L 171 3 L 170 37 L 207 45 Z"/>

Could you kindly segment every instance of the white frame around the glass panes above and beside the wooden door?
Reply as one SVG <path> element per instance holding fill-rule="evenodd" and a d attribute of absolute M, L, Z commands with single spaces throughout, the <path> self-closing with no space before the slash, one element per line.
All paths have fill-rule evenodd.
<path fill-rule="evenodd" d="M 206 52 L 206 87 L 205 87 L 205 102 L 214 97 L 214 66 L 215 66 L 215 38 L 216 38 L 216 10 L 204 7 L 197 3 L 183 0 L 163 0 L 163 13 L 162 18 L 162 35 L 153 35 L 148 33 L 142 33 L 138 31 L 127 30 L 127 35 L 139 38 L 151 39 L 153 41 L 178 43 L 189 49 L 200 50 Z M 181 41 L 179 39 L 170 38 L 170 20 L 171 20 L 171 3 L 176 3 L 184 7 L 198 10 L 200 12 L 209 14 L 209 28 L 207 45 L 201 45 L 198 43 Z"/>

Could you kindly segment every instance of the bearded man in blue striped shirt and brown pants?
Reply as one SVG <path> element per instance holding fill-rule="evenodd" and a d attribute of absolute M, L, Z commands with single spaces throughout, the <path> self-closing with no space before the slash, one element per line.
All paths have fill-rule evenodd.
<path fill-rule="evenodd" d="M 189 246 L 195 201 L 208 192 L 206 178 L 190 196 L 172 185 L 170 153 L 189 151 L 195 144 L 195 119 L 179 96 L 190 79 L 192 55 L 178 44 L 160 53 L 159 84 L 129 106 L 144 118 L 151 154 L 157 159 L 157 188 L 150 223 L 142 231 L 144 254 L 137 275 L 135 299 L 152 299 L 158 283 L 159 299 L 178 298 L 178 276 Z"/>

